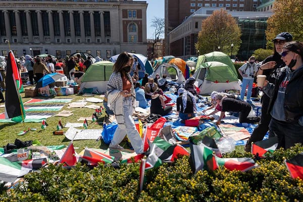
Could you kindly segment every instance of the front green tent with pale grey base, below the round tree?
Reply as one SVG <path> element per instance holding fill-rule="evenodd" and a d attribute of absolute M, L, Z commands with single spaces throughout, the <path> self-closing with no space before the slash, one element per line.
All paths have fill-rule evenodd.
<path fill-rule="evenodd" d="M 235 67 L 230 67 L 221 62 L 206 62 L 199 66 L 193 74 L 196 78 L 195 85 L 200 89 L 200 94 L 211 94 L 213 91 L 240 90 Z"/>

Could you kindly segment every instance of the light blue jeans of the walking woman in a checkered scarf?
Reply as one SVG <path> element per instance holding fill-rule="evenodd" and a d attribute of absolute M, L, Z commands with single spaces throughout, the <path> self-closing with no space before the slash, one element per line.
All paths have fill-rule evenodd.
<path fill-rule="evenodd" d="M 127 134 L 135 153 L 143 152 L 143 141 L 136 129 L 135 122 L 132 119 L 132 101 L 130 97 L 123 98 L 123 114 L 124 124 L 118 124 L 118 128 L 114 134 L 112 145 L 117 145 L 124 139 Z"/>

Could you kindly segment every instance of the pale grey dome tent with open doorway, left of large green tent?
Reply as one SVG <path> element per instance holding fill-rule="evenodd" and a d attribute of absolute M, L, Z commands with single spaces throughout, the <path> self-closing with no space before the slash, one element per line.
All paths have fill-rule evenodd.
<path fill-rule="evenodd" d="M 182 71 L 179 67 L 175 64 L 163 63 L 155 69 L 154 73 L 150 76 L 150 78 L 155 78 L 156 74 L 159 74 L 162 78 L 163 74 L 166 74 L 166 79 L 172 80 L 176 83 L 182 84 L 186 81 L 185 77 L 183 76 Z"/>

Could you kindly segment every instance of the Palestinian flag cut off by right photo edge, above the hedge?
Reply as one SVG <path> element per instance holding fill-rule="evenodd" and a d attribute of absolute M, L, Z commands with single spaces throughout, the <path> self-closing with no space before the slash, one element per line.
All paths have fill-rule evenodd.
<path fill-rule="evenodd" d="M 298 154 L 290 160 L 284 161 L 292 178 L 303 180 L 303 153 Z"/>

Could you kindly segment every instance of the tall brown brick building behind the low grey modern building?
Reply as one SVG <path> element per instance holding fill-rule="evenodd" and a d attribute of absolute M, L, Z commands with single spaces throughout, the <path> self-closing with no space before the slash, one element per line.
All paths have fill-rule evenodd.
<path fill-rule="evenodd" d="M 197 10 L 222 8 L 228 11 L 257 11 L 257 7 L 261 4 L 262 0 L 165 0 L 166 53 L 173 55 L 170 53 L 168 33 Z"/>

